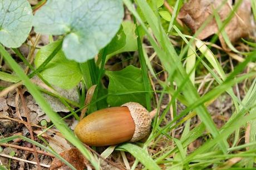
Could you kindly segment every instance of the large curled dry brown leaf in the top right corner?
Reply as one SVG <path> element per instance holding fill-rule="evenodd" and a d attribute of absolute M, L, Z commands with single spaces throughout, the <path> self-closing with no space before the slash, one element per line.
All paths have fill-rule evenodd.
<path fill-rule="evenodd" d="M 181 19 L 195 33 L 210 16 L 214 16 L 214 9 L 218 9 L 219 17 L 223 22 L 232 11 L 232 1 L 221 6 L 222 0 L 190 0 L 180 9 L 178 18 Z M 225 27 L 230 42 L 234 43 L 237 39 L 247 37 L 250 32 L 250 1 L 244 0 L 234 17 Z M 205 39 L 218 32 L 218 25 L 215 19 L 211 19 L 204 29 L 198 34 L 197 38 Z M 225 42 L 219 34 L 221 45 L 225 48 Z"/>

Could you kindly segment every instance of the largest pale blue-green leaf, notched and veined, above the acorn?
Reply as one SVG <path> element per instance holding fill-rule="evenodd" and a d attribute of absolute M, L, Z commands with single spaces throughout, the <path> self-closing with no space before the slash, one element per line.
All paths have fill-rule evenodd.
<path fill-rule="evenodd" d="M 123 16 L 120 0 L 49 0 L 33 23 L 38 33 L 66 34 L 62 44 L 66 57 L 85 62 L 110 43 Z"/>

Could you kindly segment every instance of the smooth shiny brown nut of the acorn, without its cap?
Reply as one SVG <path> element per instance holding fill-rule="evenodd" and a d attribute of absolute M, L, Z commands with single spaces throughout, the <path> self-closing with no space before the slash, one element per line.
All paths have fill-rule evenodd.
<path fill-rule="evenodd" d="M 127 107 L 111 107 L 93 112 L 75 128 L 76 136 L 88 146 L 109 146 L 130 141 L 135 123 Z"/>

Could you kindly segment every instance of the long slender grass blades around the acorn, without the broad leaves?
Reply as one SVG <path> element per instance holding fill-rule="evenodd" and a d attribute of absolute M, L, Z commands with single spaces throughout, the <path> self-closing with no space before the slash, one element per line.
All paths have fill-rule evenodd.
<path fill-rule="evenodd" d="M 27 87 L 28 91 L 46 112 L 47 116 L 51 118 L 53 123 L 52 126 L 45 129 L 42 133 L 45 133 L 48 129 L 55 126 L 68 141 L 80 149 L 83 155 L 86 156 L 96 169 L 100 168 L 99 165 L 102 163 L 102 159 L 95 158 L 95 156 L 78 141 L 63 120 L 71 116 L 75 116 L 78 119 L 77 113 L 85 107 L 89 108 L 88 113 L 96 111 L 100 108 L 100 103 L 104 103 L 108 96 L 132 93 L 145 93 L 146 108 L 149 111 L 152 106 L 156 106 L 157 116 L 152 123 L 152 132 L 145 143 L 123 143 L 119 146 L 106 148 L 105 151 L 101 153 L 103 158 L 109 157 L 114 151 L 121 151 L 124 164 L 126 167 L 129 167 L 129 159 L 127 159 L 124 154 L 124 152 L 129 152 L 135 157 L 131 169 L 136 169 L 139 163 L 143 165 L 144 169 L 255 168 L 256 73 L 253 69 L 247 70 L 247 67 L 249 63 L 255 62 L 256 60 L 256 43 L 243 39 L 243 42 L 250 46 L 250 48 L 248 48 L 250 52 L 245 53 L 238 51 L 234 44 L 230 42 L 227 32 L 225 32 L 225 27 L 227 27 L 231 19 L 236 16 L 236 12 L 243 1 L 237 1 L 227 19 L 221 21 L 218 10 L 227 3 L 227 0 L 224 0 L 193 36 L 188 35 L 187 28 L 184 28 L 184 32 L 181 26 L 175 22 L 179 9 L 184 3 L 183 1 L 177 0 L 173 4 L 173 13 L 171 14 L 168 28 L 166 29 L 164 29 L 163 20 L 161 20 L 157 12 L 157 1 L 147 3 L 146 0 L 123 0 L 123 2 L 131 12 L 132 17 L 134 17 L 134 23 L 137 28 L 136 35 L 139 62 L 145 91 L 101 94 L 103 89 L 101 80 L 105 73 L 105 63 L 107 59 L 106 46 L 101 50 L 101 63 L 98 63 L 99 65 L 95 62 L 95 59 L 91 59 L 86 63 L 80 63 L 80 70 L 83 74 L 80 103 L 72 102 L 69 99 L 61 97 L 59 94 L 51 94 L 52 96 L 60 98 L 60 101 L 71 111 L 70 114 L 61 118 L 57 113 L 52 111 L 39 90 L 49 94 L 50 92 L 39 89 L 29 80 L 29 78 L 36 75 L 43 80 L 40 72 L 61 49 L 61 41 L 59 46 L 37 69 L 33 68 L 33 66 L 27 62 L 26 58 L 22 56 L 18 49 L 13 49 L 17 56 L 33 71 L 28 76 L 24 74 L 21 67 L 12 59 L 6 49 L 0 45 L 0 53 L 17 74 L 16 76 L 7 72 L 0 72 L 0 79 L 13 83 L 22 80 L 24 86 Z M 253 16 L 256 19 L 256 3 L 252 0 L 251 4 Z M 138 8 L 140 11 L 137 10 Z M 218 33 L 210 39 L 210 43 L 197 39 L 196 36 L 207 27 L 207 24 L 212 19 L 215 19 L 218 25 Z M 157 73 L 154 66 L 152 66 L 152 62 L 141 40 L 143 37 L 141 37 L 138 31 L 139 27 L 142 27 L 146 33 L 145 38 L 149 41 L 150 46 L 156 53 L 156 57 L 160 60 L 161 65 L 159 65 L 163 68 L 163 71 L 160 73 Z M 171 39 L 170 35 L 179 39 L 182 47 L 176 48 L 174 44 L 171 43 L 173 39 Z M 235 67 L 232 68 L 231 71 L 223 67 L 224 65 L 221 64 L 222 58 L 217 58 L 214 46 L 211 45 L 218 40 L 219 35 L 223 37 L 227 46 L 232 50 L 232 53 L 244 57 L 243 62 L 235 63 Z M 225 51 L 221 51 L 221 54 L 222 53 L 224 53 L 225 56 L 228 54 L 225 53 Z M 184 63 L 184 61 L 186 63 Z M 209 83 L 209 88 L 205 90 L 203 94 L 198 92 L 196 85 L 196 76 L 200 74 L 199 71 L 201 70 L 209 74 L 212 83 Z M 248 72 L 245 73 L 245 70 Z M 165 74 L 165 81 L 160 80 L 159 74 L 161 73 Z M 203 73 L 203 76 L 205 73 Z M 160 85 L 161 90 L 152 90 L 152 84 L 150 84 L 150 80 L 152 79 Z M 45 83 L 47 84 L 47 82 Z M 238 87 L 240 83 L 244 83 L 244 86 L 248 88 L 245 88 L 245 94 L 242 99 L 240 99 L 240 96 L 237 94 L 239 91 L 234 90 L 234 87 Z M 93 94 L 93 99 L 91 103 L 84 106 L 86 90 L 94 84 L 97 84 L 97 88 Z M 154 96 L 152 94 L 158 97 L 157 101 L 156 98 L 152 97 Z M 164 97 L 166 96 L 169 97 L 169 102 L 162 108 Z M 230 117 L 224 121 L 222 126 L 217 127 L 213 121 L 215 113 L 211 113 L 208 106 L 216 99 L 221 98 L 221 96 L 229 96 L 232 100 L 232 108 L 234 109 L 232 109 Z M 69 104 L 73 104 L 73 106 L 79 108 L 73 110 Z M 184 108 L 180 108 L 180 105 Z M 168 119 L 169 114 L 171 114 L 170 119 Z M 180 129 L 182 129 L 182 131 Z M 179 136 L 175 136 L 177 133 L 179 133 Z M 41 137 L 41 134 L 38 136 Z M 1 139 L 0 143 L 8 142 L 18 137 L 20 136 Z M 52 149 L 48 149 L 40 143 L 31 141 L 31 139 L 25 137 L 20 138 L 53 153 L 57 158 L 74 169 L 71 164 L 61 158 L 56 152 L 52 151 Z M 45 139 L 41 139 L 47 144 Z M 194 148 L 194 151 L 190 151 L 189 147 L 191 144 L 193 145 L 195 141 L 201 141 L 201 144 Z"/>

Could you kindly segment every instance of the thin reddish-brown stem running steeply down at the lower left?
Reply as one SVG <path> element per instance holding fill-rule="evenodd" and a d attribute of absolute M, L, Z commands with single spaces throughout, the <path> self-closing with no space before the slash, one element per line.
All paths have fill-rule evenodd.
<path fill-rule="evenodd" d="M 29 115 L 29 113 L 28 113 L 28 108 L 27 108 L 26 102 L 25 102 L 25 100 L 24 100 L 23 94 L 21 93 L 21 90 L 18 89 L 17 92 L 18 92 L 19 96 L 21 97 L 21 103 L 22 103 L 22 106 L 23 106 L 23 108 L 24 108 L 24 112 L 25 112 L 26 117 L 27 117 L 28 130 L 29 130 L 31 139 L 32 139 L 33 141 L 35 141 L 34 135 L 33 135 L 33 131 L 32 131 L 32 126 L 31 126 L 31 121 L 30 121 L 30 115 Z M 41 170 L 40 161 L 39 161 L 39 159 L 38 159 L 38 154 L 37 154 L 37 152 L 36 152 L 36 146 L 35 146 L 35 144 L 33 144 L 33 143 L 32 143 L 32 146 L 33 146 L 33 149 L 34 149 L 33 154 L 35 155 L 36 162 L 37 162 L 37 165 L 38 165 L 37 168 L 38 168 L 39 170 Z"/>

